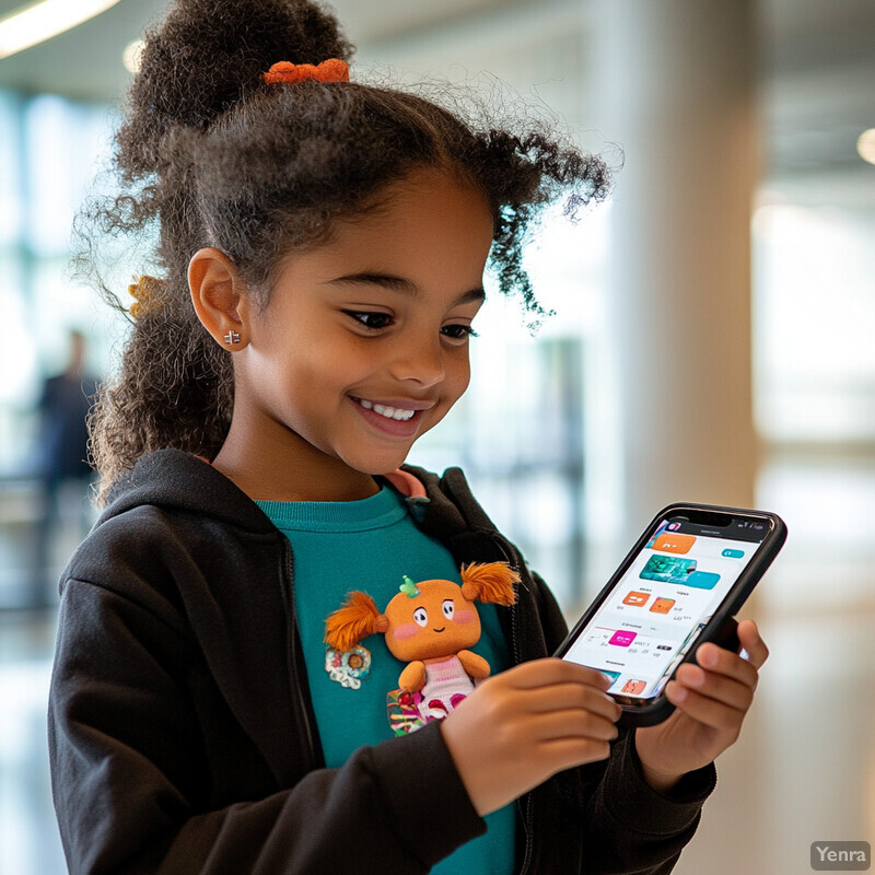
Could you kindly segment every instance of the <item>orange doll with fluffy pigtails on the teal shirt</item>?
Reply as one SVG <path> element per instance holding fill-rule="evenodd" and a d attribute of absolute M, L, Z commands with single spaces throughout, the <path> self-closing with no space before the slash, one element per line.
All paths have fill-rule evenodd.
<path fill-rule="evenodd" d="M 445 718 L 476 681 L 489 677 L 489 663 L 469 650 L 480 640 L 474 603 L 512 605 L 518 582 L 506 562 L 464 565 L 462 586 L 447 580 L 405 579 L 383 614 L 370 595 L 352 592 L 326 620 L 325 641 L 347 652 L 368 635 L 385 635 L 389 652 L 407 663 L 398 689 L 387 697 L 389 724 L 396 735 L 404 735 Z"/>

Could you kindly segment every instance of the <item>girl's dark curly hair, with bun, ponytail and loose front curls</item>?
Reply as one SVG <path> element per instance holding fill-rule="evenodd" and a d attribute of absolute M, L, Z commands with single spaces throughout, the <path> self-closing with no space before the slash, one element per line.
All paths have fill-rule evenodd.
<path fill-rule="evenodd" d="M 409 90 L 262 80 L 279 60 L 352 54 L 336 19 L 308 0 L 176 0 L 147 33 L 115 140 L 121 191 L 92 205 L 90 218 L 110 235 L 156 232 L 150 260 L 162 276 L 149 278 L 149 304 L 92 417 L 98 500 L 142 454 L 177 447 L 212 458 L 228 434 L 231 355 L 198 322 L 188 291 L 201 247 L 224 252 L 266 304 L 284 254 L 317 245 L 335 220 L 366 210 L 413 168 L 440 166 L 490 206 L 489 267 L 501 292 L 542 314 L 522 265 L 527 232 L 561 195 L 572 215 L 603 199 L 605 163 L 534 121 L 515 132 L 478 125 Z M 80 266 L 93 257 L 84 238 Z"/>

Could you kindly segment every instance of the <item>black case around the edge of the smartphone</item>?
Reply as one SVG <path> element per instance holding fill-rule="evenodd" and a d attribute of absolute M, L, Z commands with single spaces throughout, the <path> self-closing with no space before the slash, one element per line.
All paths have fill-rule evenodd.
<path fill-rule="evenodd" d="M 644 533 L 626 556 L 626 559 L 623 559 L 623 561 L 620 563 L 617 571 L 614 572 L 610 580 L 603 587 L 602 592 L 596 596 L 595 600 L 592 603 L 592 605 L 590 605 L 581 619 L 578 620 L 578 622 L 574 625 L 574 628 L 567 635 L 565 640 L 559 645 L 559 649 L 555 654 L 556 656 L 561 657 L 568 652 L 569 648 L 578 638 L 580 632 L 592 619 L 593 615 L 598 610 L 602 603 L 608 597 L 610 592 L 623 576 L 635 556 L 638 556 L 638 553 L 644 548 L 644 545 L 650 539 L 654 528 L 658 525 L 658 523 L 662 520 L 665 520 L 672 515 L 676 515 L 685 510 L 705 513 L 725 513 L 736 516 L 759 516 L 773 523 L 773 528 L 766 536 L 760 549 L 757 552 L 757 556 L 740 573 L 738 580 L 732 585 L 730 592 L 726 593 L 723 602 L 714 611 L 704 629 L 702 629 L 702 631 L 699 633 L 699 637 L 693 642 L 689 652 L 675 667 L 675 672 L 677 672 L 677 668 L 684 665 L 684 663 L 693 662 L 696 658 L 696 652 L 707 641 L 712 641 L 726 650 L 737 652 L 739 642 L 738 635 L 736 634 L 736 628 L 738 623 L 736 622 L 734 615 L 740 610 L 754 587 L 757 585 L 757 583 L 759 583 L 760 579 L 772 563 L 772 560 L 775 556 L 778 556 L 781 547 L 783 547 L 784 541 L 786 540 L 786 525 L 784 524 L 784 521 L 778 516 L 778 514 L 770 513 L 768 511 L 751 511 L 742 508 L 724 508 L 716 504 L 692 504 L 687 502 L 678 502 L 676 504 L 669 504 L 666 508 L 663 508 L 663 510 L 653 517 L 651 523 L 644 529 Z M 622 714 L 617 723 L 620 726 L 655 726 L 657 723 L 662 723 L 664 720 L 666 720 L 674 710 L 675 707 L 668 701 L 668 699 L 665 698 L 665 695 L 661 692 L 649 704 L 640 708 L 622 704 Z"/>

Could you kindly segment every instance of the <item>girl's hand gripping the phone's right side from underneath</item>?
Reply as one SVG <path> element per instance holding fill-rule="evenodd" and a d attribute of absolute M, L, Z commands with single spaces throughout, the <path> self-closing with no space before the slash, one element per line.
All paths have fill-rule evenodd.
<path fill-rule="evenodd" d="M 758 669 L 769 656 L 754 620 L 738 623 L 738 640 L 748 658 L 702 644 L 698 665 L 681 665 L 665 695 L 676 710 L 658 726 L 635 730 L 635 748 L 644 777 L 666 791 L 689 771 L 707 766 L 738 737 L 754 700 Z"/>

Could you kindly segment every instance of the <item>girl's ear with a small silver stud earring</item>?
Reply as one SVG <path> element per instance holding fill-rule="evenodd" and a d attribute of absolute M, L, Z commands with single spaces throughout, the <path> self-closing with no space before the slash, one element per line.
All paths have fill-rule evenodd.
<path fill-rule="evenodd" d="M 234 262 L 220 249 L 198 249 L 188 262 L 188 289 L 201 325 L 223 349 L 248 342 L 248 298 Z"/>

